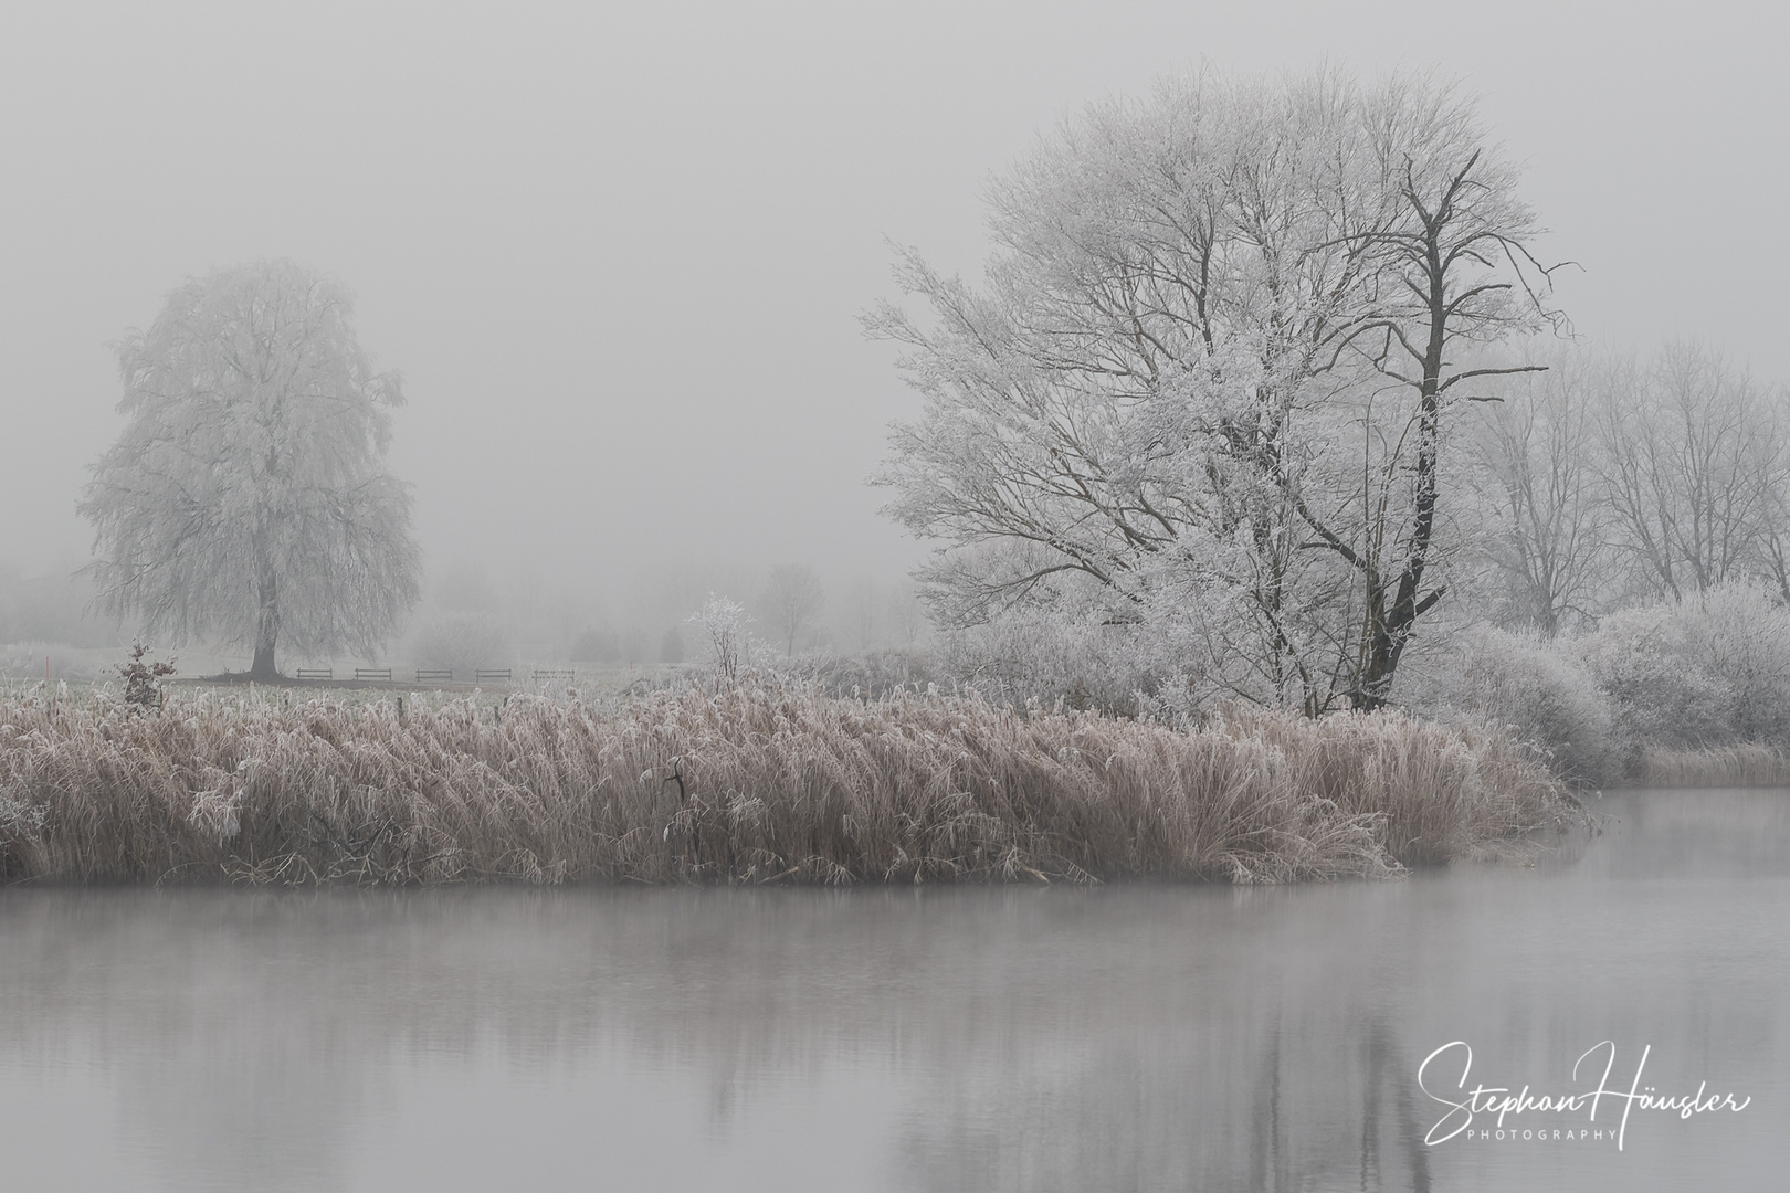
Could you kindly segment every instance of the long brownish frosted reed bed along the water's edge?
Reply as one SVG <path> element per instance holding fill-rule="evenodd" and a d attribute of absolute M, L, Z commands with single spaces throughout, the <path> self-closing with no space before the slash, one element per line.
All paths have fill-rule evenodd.
<path fill-rule="evenodd" d="M 1400 714 L 1189 733 L 777 683 L 0 701 L 11 882 L 1287 882 L 1496 851 L 1573 807 L 1507 735 Z"/>

